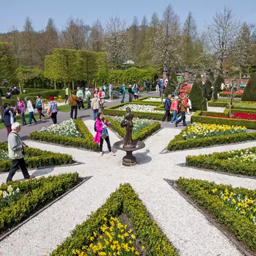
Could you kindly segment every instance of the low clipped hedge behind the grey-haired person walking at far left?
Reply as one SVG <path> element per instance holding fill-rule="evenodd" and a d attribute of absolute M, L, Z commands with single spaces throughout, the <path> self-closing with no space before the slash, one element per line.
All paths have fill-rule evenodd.
<path fill-rule="evenodd" d="M 8 152 L 8 144 L 0 142 L 0 149 Z M 50 151 L 39 150 L 38 148 L 25 147 L 25 162 L 30 169 L 52 166 L 71 164 L 74 162 L 72 156 L 68 154 L 53 153 Z M 0 172 L 9 172 L 11 168 L 12 160 L 0 161 Z"/>

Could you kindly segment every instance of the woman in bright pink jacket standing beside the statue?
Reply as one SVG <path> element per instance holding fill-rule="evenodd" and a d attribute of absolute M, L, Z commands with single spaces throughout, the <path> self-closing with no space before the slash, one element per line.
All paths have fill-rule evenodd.
<path fill-rule="evenodd" d="M 96 135 L 95 135 L 93 141 L 99 144 L 100 156 L 103 155 L 102 146 L 103 146 L 104 140 L 106 141 L 106 144 L 108 145 L 110 155 L 115 156 L 115 154 L 111 150 L 110 137 L 109 137 L 108 129 L 106 129 L 109 125 L 110 125 L 110 122 L 108 123 L 105 121 L 103 114 L 98 113 L 98 116 L 96 118 L 96 123 L 95 123 Z"/>

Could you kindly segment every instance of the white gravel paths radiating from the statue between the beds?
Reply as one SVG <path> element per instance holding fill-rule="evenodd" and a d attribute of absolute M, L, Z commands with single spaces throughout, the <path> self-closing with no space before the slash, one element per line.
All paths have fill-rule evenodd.
<path fill-rule="evenodd" d="M 86 121 L 86 124 L 94 134 L 94 122 Z M 116 157 L 108 154 L 99 157 L 98 153 L 94 152 L 27 141 L 26 143 L 30 146 L 69 153 L 76 160 L 84 163 L 44 169 L 47 175 L 78 172 L 81 177 L 93 176 L 93 178 L 14 231 L 0 243 L 0 255 L 48 254 L 57 244 L 65 240 L 76 224 L 86 220 L 87 215 L 102 205 L 110 193 L 124 182 L 132 184 L 147 210 L 150 211 L 167 238 L 179 250 L 180 255 L 242 255 L 217 228 L 212 226 L 199 211 L 163 179 L 178 179 L 180 176 L 193 177 L 255 189 L 256 180 L 254 179 L 176 165 L 184 163 L 187 155 L 244 148 L 255 143 L 248 142 L 159 155 L 158 153 L 169 140 L 178 133 L 178 129 L 164 128 L 154 137 L 148 138 L 145 141 L 146 147 L 135 152 L 138 164 L 131 168 L 121 165 L 125 154 L 121 151 L 116 153 Z M 110 139 L 112 144 L 119 140 L 111 131 Z M 41 170 L 39 175 L 40 172 Z M 5 181 L 6 176 L 7 174 L 0 175 L 0 182 Z M 17 173 L 14 178 L 22 178 L 22 174 Z"/>

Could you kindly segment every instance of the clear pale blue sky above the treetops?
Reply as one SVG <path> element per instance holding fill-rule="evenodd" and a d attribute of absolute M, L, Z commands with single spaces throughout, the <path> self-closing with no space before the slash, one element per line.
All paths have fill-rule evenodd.
<path fill-rule="evenodd" d="M 1 3 L 2 2 L 2 3 Z M 256 23 L 256 0 L 181 0 L 166 2 L 164 0 L 9 0 L 0 1 L 0 32 L 7 32 L 13 25 L 23 28 L 25 18 L 29 16 L 35 30 L 44 28 L 48 18 L 53 18 L 58 29 L 65 25 L 69 16 L 82 18 L 88 25 L 99 18 L 104 25 L 109 16 L 119 15 L 131 24 L 137 15 L 139 22 L 145 14 L 148 22 L 154 11 L 162 17 L 165 7 L 171 4 L 183 23 L 188 11 L 193 12 L 199 30 L 204 29 L 205 22 L 210 22 L 215 12 L 224 5 L 232 7 L 237 18 L 248 23 Z"/>

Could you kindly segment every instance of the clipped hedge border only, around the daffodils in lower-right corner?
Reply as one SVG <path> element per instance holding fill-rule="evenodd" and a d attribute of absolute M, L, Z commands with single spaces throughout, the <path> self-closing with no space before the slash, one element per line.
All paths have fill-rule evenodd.
<path fill-rule="evenodd" d="M 230 192 L 248 198 L 255 198 L 256 190 L 242 187 L 232 188 L 230 185 L 217 185 L 215 182 L 181 177 L 178 180 L 178 188 L 204 207 L 210 215 L 217 218 L 219 223 L 225 225 L 228 231 L 236 236 L 239 241 L 244 242 L 251 250 L 256 252 L 256 225 L 220 200 L 218 195 L 212 193 L 212 189 L 217 188 L 218 191 L 224 191 L 227 188 Z"/>

